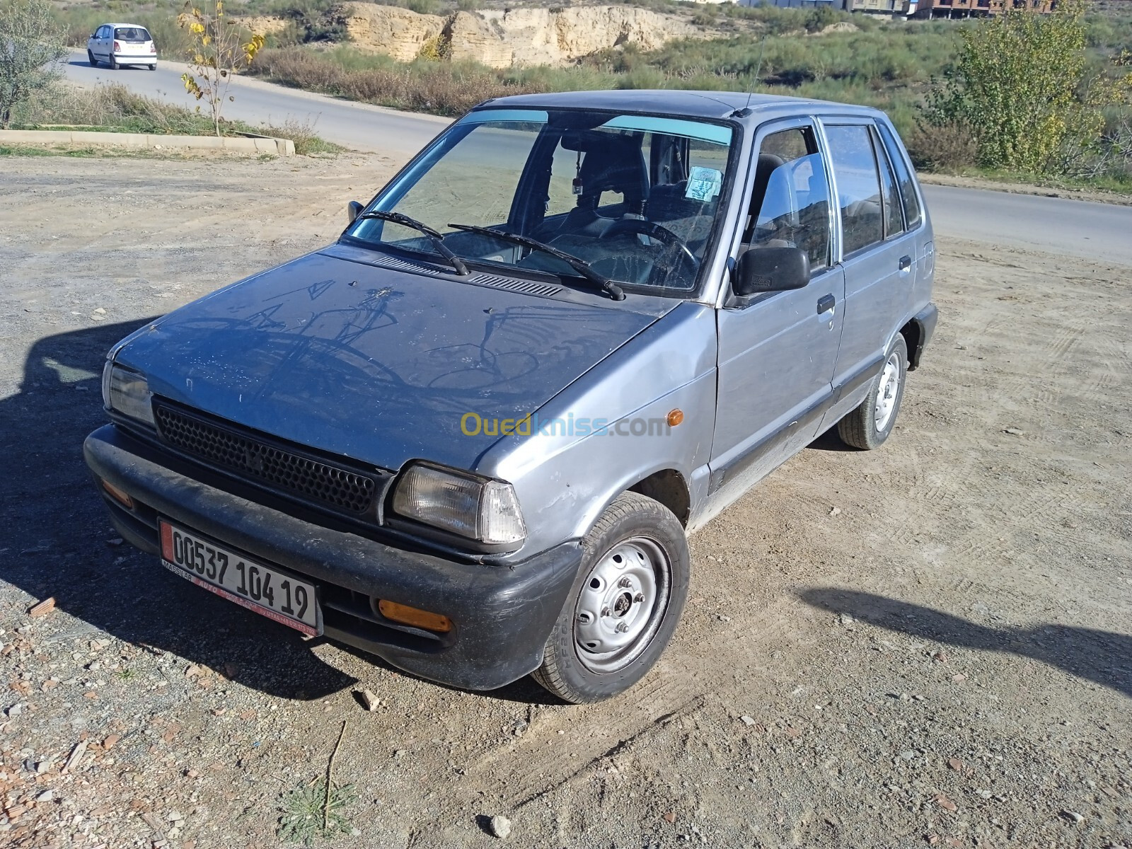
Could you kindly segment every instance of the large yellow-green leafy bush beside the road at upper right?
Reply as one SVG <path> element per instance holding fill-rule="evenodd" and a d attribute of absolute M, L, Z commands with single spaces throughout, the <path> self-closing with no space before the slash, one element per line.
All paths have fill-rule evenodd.
<path fill-rule="evenodd" d="M 1065 151 L 1099 142 L 1101 108 L 1126 91 L 1126 80 L 1089 77 L 1084 11 L 1083 0 L 1049 15 L 1009 8 L 964 28 L 953 69 L 928 98 L 927 122 L 966 127 L 985 168 L 1060 170 Z"/>

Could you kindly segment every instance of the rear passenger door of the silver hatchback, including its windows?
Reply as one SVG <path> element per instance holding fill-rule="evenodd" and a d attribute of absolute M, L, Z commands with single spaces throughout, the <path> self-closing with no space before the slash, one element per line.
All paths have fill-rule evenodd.
<path fill-rule="evenodd" d="M 908 315 L 915 283 L 915 237 L 892 164 L 869 119 L 824 122 L 841 222 L 844 312 L 833 375 L 843 406 L 874 377 L 885 346 Z"/>

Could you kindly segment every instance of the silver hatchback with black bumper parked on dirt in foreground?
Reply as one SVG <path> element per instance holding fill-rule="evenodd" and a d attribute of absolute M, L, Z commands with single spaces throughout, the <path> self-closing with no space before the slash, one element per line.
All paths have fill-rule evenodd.
<path fill-rule="evenodd" d="M 115 345 L 85 456 L 121 535 L 212 593 L 597 701 L 668 644 L 687 534 L 829 429 L 890 437 L 934 261 L 875 110 L 488 101 L 335 243 Z"/>

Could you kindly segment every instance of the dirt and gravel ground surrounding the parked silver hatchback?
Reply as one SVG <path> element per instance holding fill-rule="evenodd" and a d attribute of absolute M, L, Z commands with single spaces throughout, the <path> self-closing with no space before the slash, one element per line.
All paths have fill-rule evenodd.
<path fill-rule="evenodd" d="M 1129 268 L 941 240 L 893 438 L 820 439 L 696 534 L 661 662 L 574 707 L 204 593 L 83 465 L 111 343 L 333 240 L 389 163 L 0 171 L 0 844 L 276 846 L 345 722 L 334 847 L 1132 846 Z"/>

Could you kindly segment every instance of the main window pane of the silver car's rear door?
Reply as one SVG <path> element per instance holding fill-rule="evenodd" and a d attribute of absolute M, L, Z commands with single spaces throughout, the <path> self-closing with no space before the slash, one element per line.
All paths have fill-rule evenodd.
<path fill-rule="evenodd" d="M 884 239 L 881 179 L 867 126 L 826 127 L 825 135 L 838 181 L 843 252 L 848 256 Z"/>

